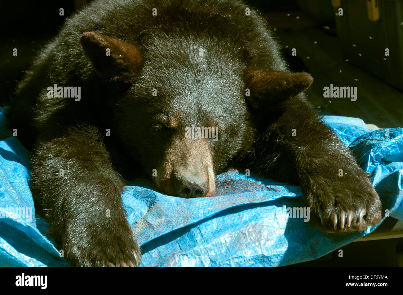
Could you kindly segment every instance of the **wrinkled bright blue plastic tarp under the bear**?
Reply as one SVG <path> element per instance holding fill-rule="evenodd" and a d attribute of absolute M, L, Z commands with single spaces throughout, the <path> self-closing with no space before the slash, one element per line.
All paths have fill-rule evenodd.
<path fill-rule="evenodd" d="M 402 128 L 372 131 L 360 119 L 337 116 L 324 121 L 373 172 L 383 209 L 403 220 Z M 9 130 L 1 128 L 0 136 L 0 208 L 32 208 L 34 214 L 29 154 Z M 144 179 L 125 187 L 122 200 L 141 245 L 141 266 L 283 266 L 318 258 L 375 229 L 334 235 L 286 219 L 284 206 L 304 206 L 299 186 L 246 177 L 243 170 L 218 175 L 216 187 L 214 197 L 194 199 L 160 194 Z M 47 230 L 37 216 L 1 218 L 0 265 L 67 266 Z"/>

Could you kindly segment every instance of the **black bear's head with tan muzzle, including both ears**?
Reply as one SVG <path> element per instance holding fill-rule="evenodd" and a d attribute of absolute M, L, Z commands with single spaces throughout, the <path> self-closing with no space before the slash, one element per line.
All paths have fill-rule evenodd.
<path fill-rule="evenodd" d="M 140 48 L 87 32 L 81 44 L 107 83 L 125 85 L 114 120 L 126 154 L 172 196 L 212 196 L 215 175 L 251 150 L 254 118 L 312 83 L 306 73 L 248 70 L 239 48 L 208 35 L 160 33 Z"/>

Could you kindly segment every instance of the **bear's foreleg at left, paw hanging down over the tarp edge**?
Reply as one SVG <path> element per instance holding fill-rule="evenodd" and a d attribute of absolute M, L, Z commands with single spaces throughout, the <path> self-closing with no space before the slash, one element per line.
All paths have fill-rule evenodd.
<path fill-rule="evenodd" d="M 140 248 L 122 206 L 123 180 L 98 130 L 75 126 L 33 153 L 35 204 L 72 266 L 137 266 Z"/>

